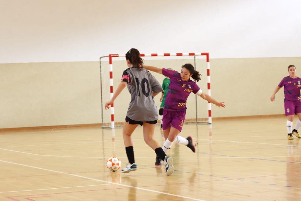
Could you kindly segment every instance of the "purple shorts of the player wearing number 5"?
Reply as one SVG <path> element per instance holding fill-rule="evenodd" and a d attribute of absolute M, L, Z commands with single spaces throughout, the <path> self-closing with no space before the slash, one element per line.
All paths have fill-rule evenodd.
<path fill-rule="evenodd" d="M 172 126 L 181 132 L 185 115 L 186 111 L 169 111 L 164 109 L 162 129 L 166 130 L 169 126 Z"/>

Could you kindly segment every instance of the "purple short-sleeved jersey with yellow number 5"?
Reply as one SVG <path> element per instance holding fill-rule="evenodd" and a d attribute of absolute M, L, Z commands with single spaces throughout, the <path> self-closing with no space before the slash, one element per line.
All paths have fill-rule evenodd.
<path fill-rule="evenodd" d="M 191 92 L 197 93 L 200 87 L 191 79 L 183 81 L 178 71 L 162 69 L 162 74 L 170 78 L 164 109 L 186 111 L 186 101 Z"/>

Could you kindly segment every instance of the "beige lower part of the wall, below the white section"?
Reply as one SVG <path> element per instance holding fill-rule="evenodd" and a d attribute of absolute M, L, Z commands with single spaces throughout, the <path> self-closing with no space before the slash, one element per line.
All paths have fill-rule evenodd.
<path fill-rule="evenodd" d="M 298 75 L 301 57 L 211 59 L 211 96 L 226 105 L 212 105 L 212 116 L 283 114 L 283 89 L 275 102 L 270 101 L 270 96 L 288 75 L 289 64 L 296 66 Z M 170 65 L 164 67 L 180 69 Z M 114 74 L 114 90 L 124 69 Z M 162 82 L 162 75 L 153 74 Z M 202 85 L 202 89 L 206 88 Z M 98 61 L 0 64 L 0 93 L 0 128 L 101 123 Z M 155 97 L 158 107 L 159 98 Z M 194 107 L 189 105 L 194 99 L 194 95 L 188 99 L 186 118 L 194 113 Z M 129 105 L 126 89 L 114 104 L 115 121 L 124 121 Z"/>

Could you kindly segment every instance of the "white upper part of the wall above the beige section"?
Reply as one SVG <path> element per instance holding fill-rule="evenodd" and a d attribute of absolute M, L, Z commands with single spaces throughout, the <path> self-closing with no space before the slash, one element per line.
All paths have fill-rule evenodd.
<path fill-rule="evenodd" d="M 0 63 L 126 53 L 301 56 L 300 0 L 0 0 Z"/>

